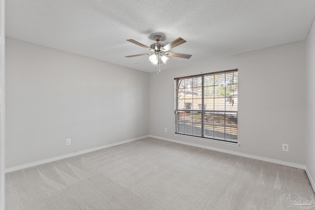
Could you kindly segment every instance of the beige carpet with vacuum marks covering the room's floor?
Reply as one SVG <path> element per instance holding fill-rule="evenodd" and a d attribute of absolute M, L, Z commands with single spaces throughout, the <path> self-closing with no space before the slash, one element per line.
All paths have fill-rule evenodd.
<path fill-rule="evenodd" d="M 304 170 L 154 138 L 6 174 L 7 210 L 294 210 L 296 196 L 315 204 Z"/>

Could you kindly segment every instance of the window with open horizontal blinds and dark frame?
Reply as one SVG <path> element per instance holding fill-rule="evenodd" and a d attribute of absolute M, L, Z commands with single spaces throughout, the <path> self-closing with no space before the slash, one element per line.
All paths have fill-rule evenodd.
<path fill-rule="evenodd" d="M 237 74 L 175 78 L 175 133 L 237 143 Z"/>

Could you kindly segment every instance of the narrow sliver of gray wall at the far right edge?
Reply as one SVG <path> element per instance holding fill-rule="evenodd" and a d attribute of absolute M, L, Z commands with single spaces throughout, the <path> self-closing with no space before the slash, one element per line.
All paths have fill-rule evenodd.
<path fill-rule="evenodd" d="M 315 189 L 315 23 L 306 39 L 305 165 Z"/>

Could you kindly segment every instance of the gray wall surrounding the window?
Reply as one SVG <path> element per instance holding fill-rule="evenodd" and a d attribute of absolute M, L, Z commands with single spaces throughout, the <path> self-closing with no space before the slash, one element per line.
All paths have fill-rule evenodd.
<path fill-rule="evenodd" d="M 240 147 L 174 136 L 174 78 L 235 68 Z M 150 135 L 304 165 L 304 83 L 305 41 L 151 73 Z"/>

